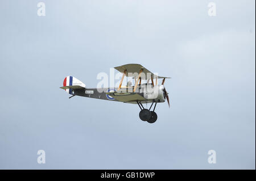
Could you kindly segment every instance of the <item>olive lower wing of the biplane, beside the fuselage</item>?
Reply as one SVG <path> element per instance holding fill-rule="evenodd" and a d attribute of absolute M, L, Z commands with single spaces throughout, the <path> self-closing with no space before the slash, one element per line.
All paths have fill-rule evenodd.
<path fill-rule="evenodd" d="M 112 96 L 112 98 L 117 99 L 118 101 L 121 101 L 121 102 L 146 100 L 145 98 L 143 98 L 143 96 L 135 92 L 131 92 L 131 93 L 106 92 L 106 94 L 108 94 L 109 96 Z"/>

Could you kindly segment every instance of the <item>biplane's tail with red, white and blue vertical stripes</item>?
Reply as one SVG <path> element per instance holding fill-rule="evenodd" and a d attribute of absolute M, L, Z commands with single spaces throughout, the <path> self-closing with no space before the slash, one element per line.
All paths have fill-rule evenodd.
<path fill-rule="evenodd" d="M 66 92 L 68 92 L 68 94 L 71 95 L 73 95 L 72 90 L 84 88 L 85 84 L 79 81 L 79 79 L 72 76 L 65 77 L 63 81 L 63 87 L 60 87 L 60 89 L 64 89 Z"/>

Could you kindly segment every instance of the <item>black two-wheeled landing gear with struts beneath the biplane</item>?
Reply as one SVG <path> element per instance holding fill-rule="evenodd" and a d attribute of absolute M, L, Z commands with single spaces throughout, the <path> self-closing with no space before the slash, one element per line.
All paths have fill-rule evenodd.
<path fill-rule="evenodd" d="M 139 112 L 139 118 L 142 121 L 147 121 L 148 123 L 155 123 L 155 121 L 158 119 L 158 115 L 155 113 L 155 107 L 156 107 L 156 103 L 155 103 L 155 107 L 153 111 L 150 111 L 151 107 L 154 104 L 154 100 L 150 106 L 150 109 L 147 110 L 142 106 L 141 102 L 137 101 L 137 104 L 139 105 L 139 108 L 141 108 L 141 112 Z M 143 108 L 143 109 L 142 109 Z"/>

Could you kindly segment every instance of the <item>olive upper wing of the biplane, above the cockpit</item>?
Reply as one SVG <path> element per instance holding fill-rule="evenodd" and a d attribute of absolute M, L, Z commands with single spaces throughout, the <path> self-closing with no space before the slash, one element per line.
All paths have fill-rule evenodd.
<path fill-rule="evenodd" d="M 140 64 L 126 64 L 126 65 L 116 66 L 115 69 L 117 69 L 121 73 L 125 72 L 126 77 L 129 77 L 128 73 L 138 73 L 139 74 L 142 69 L 142 72 L 144 74 L 146 74 L 146 76 L 148 74 L 150 74 L 153 78 L 170 78 L 170 77 L 161 77 L 161 76 L 155 75 Z M 134 77 L 134 75 L 130 75 L 130 77 Z M 135 77 L 138 77 L 138 75 L 137 76 L 135 75 Z M 142 77 L 142 78 L 144 78 L 144 77 Z M 146 78 L 144 78 L 144 79 L 146 79 Z"/>

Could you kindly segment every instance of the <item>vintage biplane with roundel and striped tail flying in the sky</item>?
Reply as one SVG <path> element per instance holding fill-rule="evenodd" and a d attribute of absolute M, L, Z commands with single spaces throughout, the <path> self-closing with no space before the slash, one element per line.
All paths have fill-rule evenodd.
<path fill-rule="evenodd" d="M 165 79 L 170 77 L 160 77 L 155 75 L 139 64 L 126 64 L 117 66 L 115 69 L 123 73 L 119 87 L 89 89 L 85 88 L 85 84 L 75 77 L 68 76 L 64 79 L 63 87 L 60 88 L 72 95 L 69 98 L 78 95 L 88 98 L 138 104 L 139 108 L 141 108 L 139 118 L 148 123 L 155 123 L 158 118 L 155 113 L 156 103 L 163 103 L 167 99 L 170 107 L 168 92 L 163 86 Z M 125 76 L 133 77 L 135 85 L 132 86 L 129 81 L 126 86 L 122 86 L 123 78 Z M 159 78 L 163 79 L 161 85 L 158 84 Z M 142 80 L 147 81 L 147 83 L 142 83 Z M 143 107 L 142 104 L 145 103 L 152 103 L 149 110 Z M 154 103 L 154 109 L 153 111 L 150 111 Z"/>

